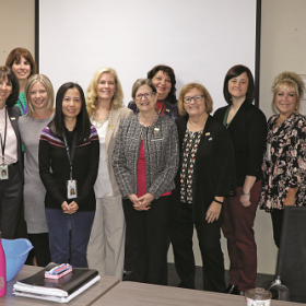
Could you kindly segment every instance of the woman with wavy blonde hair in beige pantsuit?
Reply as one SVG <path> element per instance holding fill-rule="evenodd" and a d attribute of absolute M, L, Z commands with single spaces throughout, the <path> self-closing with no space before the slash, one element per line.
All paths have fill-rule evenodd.
<path fill-rule="evenodd" d="M 120 121 L 133 113 L 123 107 L 123 93 L 115 69 L 103 67 L 95 72 L 86 92 L 86 106 L 99 138 L 98 176 L 94 186 L 96 213 L 87 247 L 89 267 L 102 275 L 121 280 L 126 224 L 111 154 Z"/>

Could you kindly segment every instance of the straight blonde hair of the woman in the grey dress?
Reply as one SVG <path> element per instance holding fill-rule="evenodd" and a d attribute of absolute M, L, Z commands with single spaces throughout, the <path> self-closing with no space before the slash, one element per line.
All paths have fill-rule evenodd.
<path fill-rule="evenodd" d="M 25 96 L 25 101 L 26 101 L 26 105 L 27 105 L 27 114 L 32 115 L 35 111 L 33 104 L 31 103 L 31 90 L 32 90 L 33 85 L 37 82 L 40 82 L 45 86 L 45 89 L 47 91 L 47 95 L 48 95 L 47 108 L 48 108 L 48 110 L 54 113 L 55 111 L 55 107 L 54 107 L 55 92 L 54 92 L 54 86 L 52 86 L 51 81 L 45 74 L 33 74 L 28 78 L 26 85 L 25 85 L 25 90 L 24 90 L 24 96 Z"/>

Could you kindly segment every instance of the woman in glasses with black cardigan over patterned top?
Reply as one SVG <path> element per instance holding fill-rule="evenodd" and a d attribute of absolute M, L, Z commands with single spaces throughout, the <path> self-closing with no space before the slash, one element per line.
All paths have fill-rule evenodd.
<path fill-rule="evenodd" d="M 196 226 L 203 262 L 203 289 L 223 292 L 224 259 L 221 250 L 222 204 L 235 186 L 234 152 L 226 129 L 213 119 L 212 98 L 199 83 L 179 94 L 176 120 L 179 169 L 173 192 L 170 239 L 179 286 L 195 289 L 192 235 Z"/>

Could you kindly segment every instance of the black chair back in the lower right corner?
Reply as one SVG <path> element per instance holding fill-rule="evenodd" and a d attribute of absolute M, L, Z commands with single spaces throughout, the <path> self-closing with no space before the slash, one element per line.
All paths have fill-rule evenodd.
<path fill-rule="evenodd" d="M 275 282 L 269 291 L 281 301 L 306 303 L 306 207 L 285 207 Z"/>

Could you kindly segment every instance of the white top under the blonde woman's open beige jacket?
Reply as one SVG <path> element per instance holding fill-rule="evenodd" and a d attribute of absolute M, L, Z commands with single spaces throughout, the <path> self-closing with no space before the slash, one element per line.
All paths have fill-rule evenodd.
<path fill-rule="evenodd" d="M 96 198 L 104 198 L 113 196 L 113 188 L 110 185 L 108 168 L 107 168 L 107 154 L 105 145 L 105 136 L 108 127 L 108 120 L 97 129 L 98 139 L 99 139 L 99 163 L 98 163 L 98 173 L 96 183 L 94 185 Z M 111 161 L 110 161 L 111 163 Z"/>

